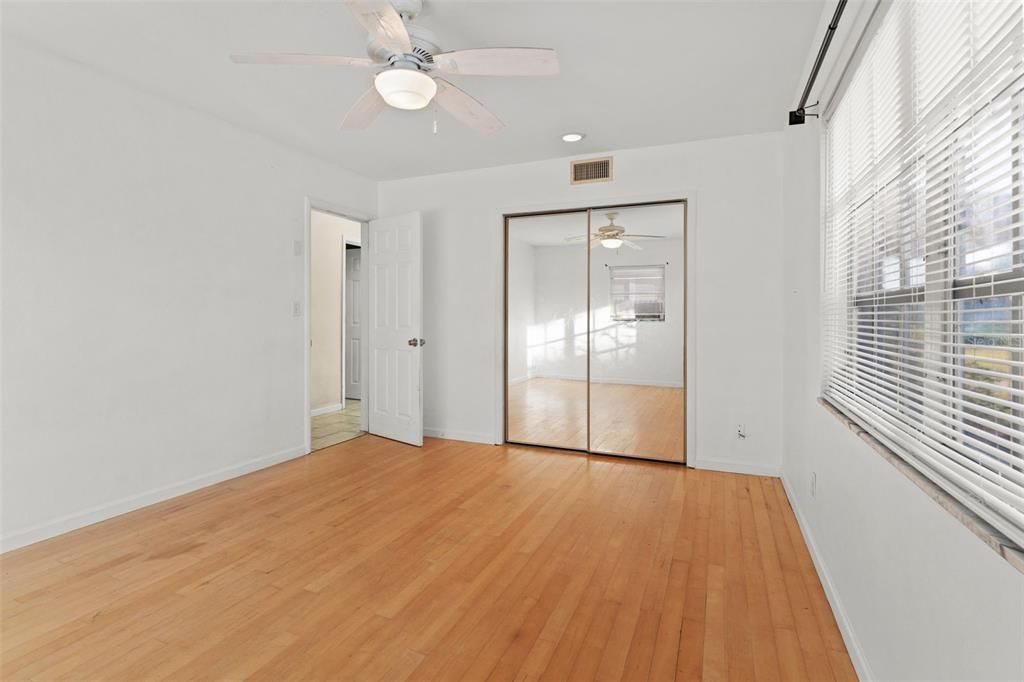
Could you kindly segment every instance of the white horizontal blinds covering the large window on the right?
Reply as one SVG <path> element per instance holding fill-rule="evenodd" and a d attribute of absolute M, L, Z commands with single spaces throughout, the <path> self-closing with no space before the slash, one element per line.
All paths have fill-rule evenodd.
<path fill-rule="evenodd" d="M 825 124 L 823 392 L 1024 546 L 1022 7 L 880 8 Z"/>

